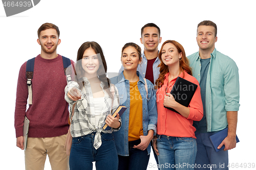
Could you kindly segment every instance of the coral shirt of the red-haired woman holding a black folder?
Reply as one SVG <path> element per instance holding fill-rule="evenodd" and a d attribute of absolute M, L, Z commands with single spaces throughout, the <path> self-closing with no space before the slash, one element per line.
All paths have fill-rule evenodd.
<path fill-rule="evenodd" d="M 165 75 L 164 84 L 161 88 L 157 90 L 157 134 L 166 135 L 166 136 L 175 136 L 175 137 L 193 137 L 195 136 L 196 128 L 193 126 L 193 120 L 199 121 L 203 117 L 203 104 L 200 93 L 200 86 L 196 78 L 187 74 L 186 71 L 183 78 L 183 73 L 179 77 L 195 83 L 198 85 L 196 92 L 189 103 L 189 115 L 187 118 L 183 117 L 181 114 L 178 114 L 172 110 L 166 109 L 163 106 L 163 100 L 165 95 L 165 89 L 168 84 L 169 73 Z M 167 87 L 167 92 L 169 93 L 172 90 L 174 83 L 177 78 L 170 81 Z"/>

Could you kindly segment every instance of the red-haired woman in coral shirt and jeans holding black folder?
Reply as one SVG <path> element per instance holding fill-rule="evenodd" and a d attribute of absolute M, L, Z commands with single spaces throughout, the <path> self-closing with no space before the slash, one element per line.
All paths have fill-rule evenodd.
<path fill-rule="evenodd" d="M 161 61 L 159 78 L 156 80 L 158 122 L 153 143 L 159 167 L 164 169 L 168 165 L 168 169 L 194 169 L 197 143 L 193 120 L 199 121 L 203 117 L 199 83 L 191 76 L 184 48 L 177 41 L 165 41 L 158 57 Z M 177 103 L 170 94 L 178 77 L 198 85 L 188 107 Z"/>

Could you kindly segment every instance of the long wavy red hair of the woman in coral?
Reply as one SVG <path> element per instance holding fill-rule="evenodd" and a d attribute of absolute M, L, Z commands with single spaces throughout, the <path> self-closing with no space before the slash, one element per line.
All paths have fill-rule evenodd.
<path fill-rule="evenodd" d="M 183 72 L 183 77 L 184 77 L 184 70 L 185 70 L 189 75 L 192 76 L 191 67 L 189 67 L 189 61 L 188 61 L 188 59 L 187 59 L 187 57 L 186 57 L 185 50 L 184 50 L 183 46 L 182 46 L 179 42 L 177 42 L 177 41 L 175 41 L 175 40 L 167 40 L 167 41 L 165 41 L 165 42 L 162 44 L 161 50 L 159 51 L 159 54 L 158 54 L 158 58 L 159 58 L 159 60 L 160 60 L 160 64 L 158 65 L 158 67 L 160 67 L 160 69 L 159 69 L 160 74 L 159 74 L 158 79 L 156 80 L 156 86 L 155 86 L 156 89 L 162 87 L 163 81 L 164 81 L 164 78 L 165 78 L 164 75 L 166 75 L 166 74 L 169 72 L 168 66 L 165 65 L 165 64 L 163 63 L 163 61 L 162 61 L 162 50 L 163 50 L 163 46 L 164 46 L 166 43 L 172 43 L 172 44 L 174 44 L 174 45 L 176 46 L 178 52 L 182 54 L 181 60 L 180 60 L 180 70 Z"/>

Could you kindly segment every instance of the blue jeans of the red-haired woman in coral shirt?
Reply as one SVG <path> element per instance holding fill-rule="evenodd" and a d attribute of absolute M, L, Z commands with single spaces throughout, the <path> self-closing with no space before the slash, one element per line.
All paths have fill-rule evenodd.
<path fill-rule="evenodd" d="M 157 138 L 160 169 L 194 169 L 197 141 L 192 137 L 159 135 Z"/>

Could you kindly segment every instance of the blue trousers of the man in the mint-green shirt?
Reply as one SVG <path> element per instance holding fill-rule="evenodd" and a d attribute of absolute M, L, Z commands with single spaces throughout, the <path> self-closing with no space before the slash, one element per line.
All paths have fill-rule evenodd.
<path fill-rule="evenodd" d="M 197 137 L 197 157 L 195 169 L 228 169 L 228 152 L 216 152 L 209 136 L 217 132 L 195 133 Z"/>

